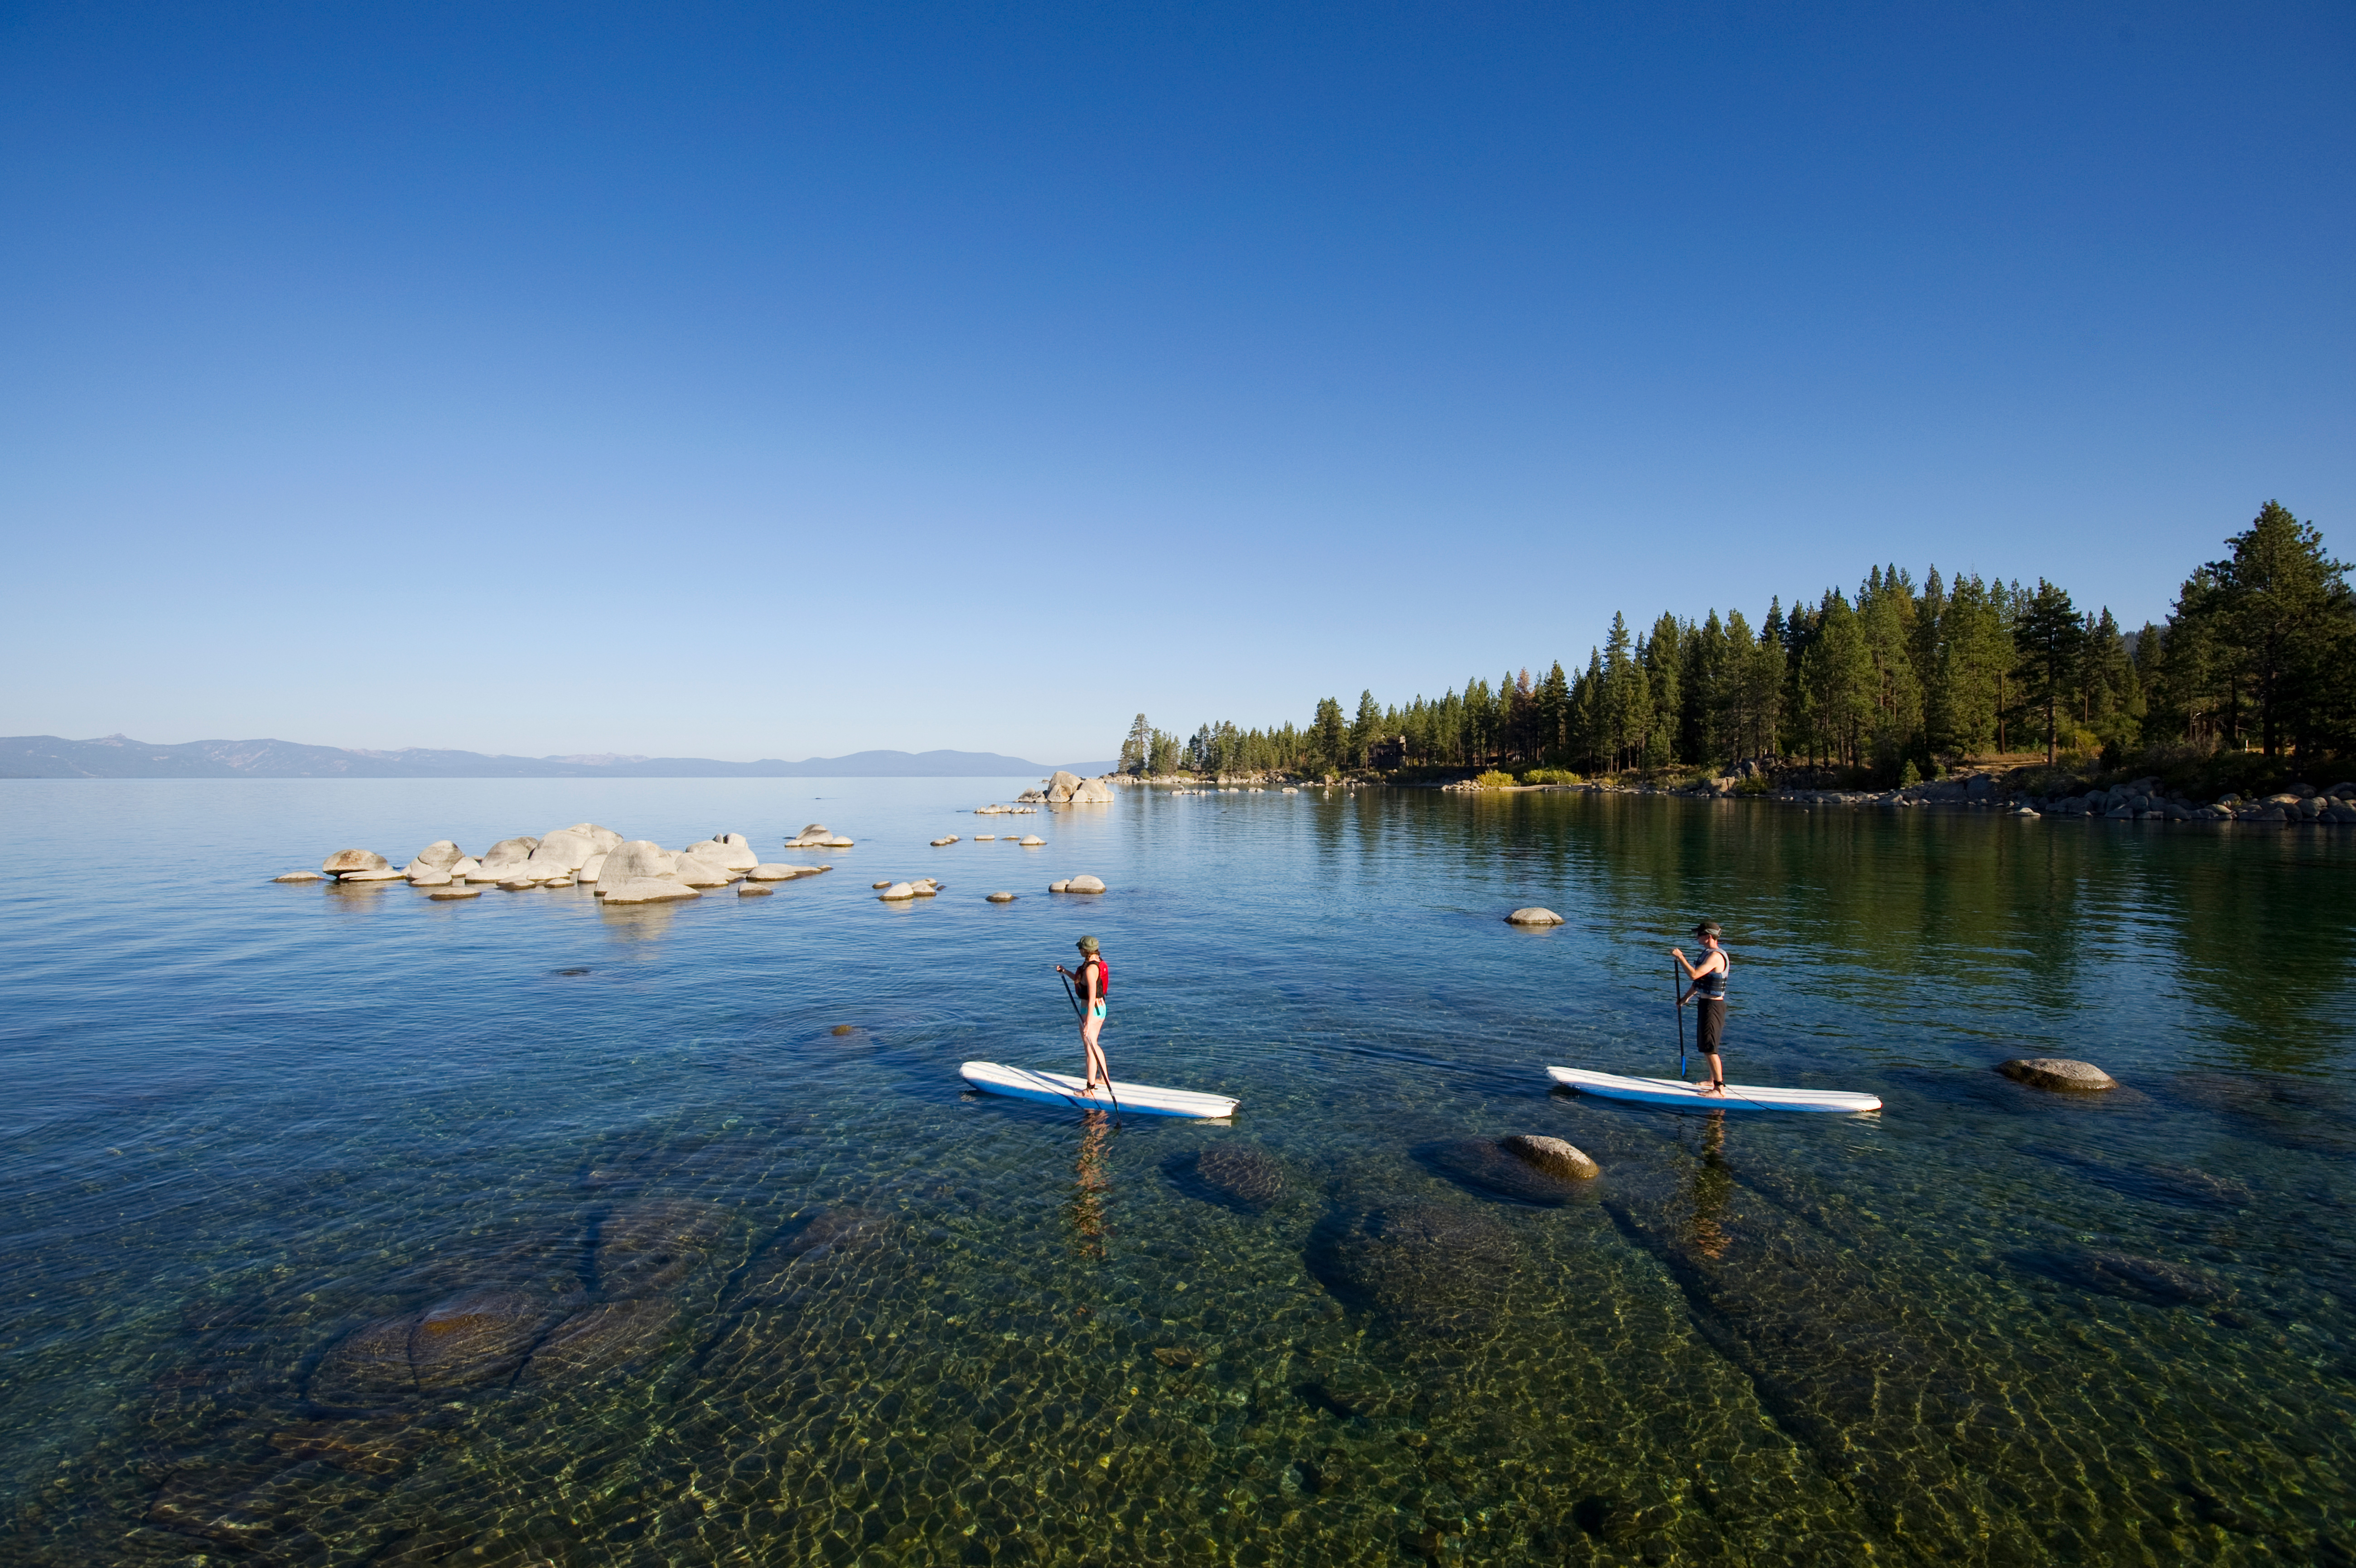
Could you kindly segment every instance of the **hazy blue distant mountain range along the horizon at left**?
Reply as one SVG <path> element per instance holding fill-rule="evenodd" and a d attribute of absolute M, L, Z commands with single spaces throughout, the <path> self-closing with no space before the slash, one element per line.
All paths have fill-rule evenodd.
<path fill-rule="evenodd" d="M 1096 777 L 1114 763 L 1063 763 Z M 294 742 L 151 746 L 123 735 L 68 742 L 0 735 L 0 779 L 952 779 L 1048 775 L 997 751 L 853 751 L 801 763 L 719 763 L 707 756 L 483 756 L 481 751 L 344 751 Z"/>

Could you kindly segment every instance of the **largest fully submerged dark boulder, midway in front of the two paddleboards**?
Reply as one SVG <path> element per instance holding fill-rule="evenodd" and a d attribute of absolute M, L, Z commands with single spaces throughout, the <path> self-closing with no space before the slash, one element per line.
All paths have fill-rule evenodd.
<path fill-rule="evenodd" d="M 1522 1255 L 1477 1208 L 1402 1203 L 1322 1220 L 1308 1264 L 1341 1302 L 1399 1330 L 1454 1337 L 1487 1333 Z"/>

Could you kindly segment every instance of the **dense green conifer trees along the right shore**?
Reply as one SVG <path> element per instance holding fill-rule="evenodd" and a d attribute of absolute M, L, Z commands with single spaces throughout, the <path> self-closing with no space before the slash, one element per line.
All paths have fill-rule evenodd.
<path fill-rule="evenodd" d="M 1192 782 L 1710 786 L 1894 791 L 2036 751 L 2003 786 L 2057 798 L 2149 777 L 2182 800 L 2323 789 L 2356 756 L 2356 596 L 2323 534 L 2276 501 L 2184 579 L 2163 624 L 2127 631 L 2062 584 L 1932 565 L 1873 567 L 1857 593 L 1769 600 L 1647 631 L 1614 614 L 1586 666 L 1508 671 L 1494 685 L 1357 711 L 1317 702 L 1305 725 L 1204 723 L 1190 737 L 1138 713 L 1121 775 Z M 2151 793 L 2149 789 L 2142 793 Z"/>

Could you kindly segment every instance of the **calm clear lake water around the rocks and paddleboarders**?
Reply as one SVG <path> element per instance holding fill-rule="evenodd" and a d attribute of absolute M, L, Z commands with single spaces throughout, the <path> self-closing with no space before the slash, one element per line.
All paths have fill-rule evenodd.
<path fill-rule="evenodd" d="M 0 1559 L 2356 1561 L 2356 833 L 957 815 L 1027 784 L 0 784 Z M 613 913 L 266 881 L 582 819 L 858 848 Z M 1729 1074 L 1882 1114 L 1550 1088 L 1677 1071 L 1699 916 Z M 964 1092 L 1077 1071 L 1081 932 L 1117 1076 L 1232 1123 Z"/>

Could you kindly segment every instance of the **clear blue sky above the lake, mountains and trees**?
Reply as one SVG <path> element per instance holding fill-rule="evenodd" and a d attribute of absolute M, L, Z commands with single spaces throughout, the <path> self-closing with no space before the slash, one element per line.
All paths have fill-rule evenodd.
<path fill-rule="evenodd" d="M 2349 5 L 0 5 L 0 732 L 1110 756 L 2356 553 Z"/>

